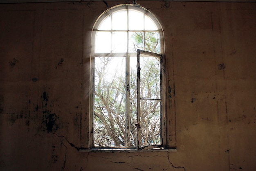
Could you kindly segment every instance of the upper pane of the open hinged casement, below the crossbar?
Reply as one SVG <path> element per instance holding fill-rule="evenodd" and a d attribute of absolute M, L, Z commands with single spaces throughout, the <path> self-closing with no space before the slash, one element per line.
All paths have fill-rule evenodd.
<path fill-rule="evenodd" d="M 140 97 L 144 99 L 160 99 L 159 58 L 143 56 L 140 57 Z"/>

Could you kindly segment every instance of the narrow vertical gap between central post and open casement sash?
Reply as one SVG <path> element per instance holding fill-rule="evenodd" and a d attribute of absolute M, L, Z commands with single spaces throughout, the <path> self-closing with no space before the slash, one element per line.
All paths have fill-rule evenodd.
<path fill-rule="evenodd" d="M 137 57 L 130 57 L 130 138 L 128 146 L 136 147 L 137 145 Z"/>

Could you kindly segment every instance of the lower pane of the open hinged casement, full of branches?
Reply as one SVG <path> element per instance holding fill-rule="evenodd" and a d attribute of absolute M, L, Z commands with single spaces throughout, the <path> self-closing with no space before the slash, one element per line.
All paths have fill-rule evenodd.
<path fill-rule="evenodd" d="M 161 144 L 160 101 L 140 101 L 140 146 Z"/>

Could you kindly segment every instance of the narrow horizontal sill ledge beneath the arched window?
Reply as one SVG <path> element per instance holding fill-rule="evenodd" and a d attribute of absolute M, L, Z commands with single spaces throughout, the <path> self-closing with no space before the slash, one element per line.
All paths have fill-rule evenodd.
<path fill-rule="evenodd" d="M 93 148 L 93 149 L 79 149 L 79 152 L 93 152 L 93 153 L 120 153 L 120 152 L 176 152 L 177 149 L 173 148 L 173 149 L 164 149 L 164 148 L 154 148 L 154 149 L 140 149 L 140 150 L 136 150 L 136 149 L 101 149 L 101 148 Z"/>

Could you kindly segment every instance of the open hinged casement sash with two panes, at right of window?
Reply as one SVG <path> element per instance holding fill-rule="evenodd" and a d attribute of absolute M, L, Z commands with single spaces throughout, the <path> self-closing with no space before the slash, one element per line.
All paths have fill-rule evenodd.
<path fill-rule="evenodd" d="M 162 55 L 137 50 L 137 149 L 163 144 L 161 64 Z"/>

